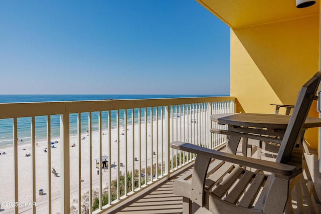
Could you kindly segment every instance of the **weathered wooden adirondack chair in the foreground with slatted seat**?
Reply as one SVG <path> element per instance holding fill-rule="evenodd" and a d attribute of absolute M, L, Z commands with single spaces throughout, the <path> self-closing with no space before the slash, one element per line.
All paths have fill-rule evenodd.
<path fill-rule="evenodd" d="M 174 194 L 183 196 L 183 213 L 191 213 L 192 201 L 212 213 L 288 210 L 289 185 L 302 173 L 301 128 L 320 79 L 317 72 L 301 88 L 275 162 L 172 142 L 172 148 L 197 154 L 193 171 L 174 181 Z"/>

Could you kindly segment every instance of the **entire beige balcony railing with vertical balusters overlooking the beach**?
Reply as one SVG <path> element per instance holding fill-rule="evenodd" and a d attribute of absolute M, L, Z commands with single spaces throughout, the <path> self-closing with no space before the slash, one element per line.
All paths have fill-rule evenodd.
<path fill-rule="evenodd" d="M 7 147 L 13 170 L 0 174 L 9 193 L 2 194 L 0 202 L 37 204 L 0 204 L 1 208 L 15 213 L 36 213 L 36 209 L 39 213 L 82 213 L 93 208 L 94 213 L 104 212 L 193 161 L 194 154 L 170 148 L 171 141 L 209 148 L 223 144 L 223 135 L 209 132 L 218 126 L 210 115 L 234 112 L 234 100 L 197 97 L 0 104 L 0 123 L 9 120 L 13 136 Z M 20 145 L 23 120 L 30 123 L 30 136 L 25 138 L 30 143 L 21 141 Z M 57 127 L 60 131 L 55 136 Z M 43 152 L 44 147 L 48 152 Z M 30 151 L 29 158 L 24 157 L 26 151 Z M 106 165 L 102 155 L 108 156 Z M 53 166 L 60 177 L 52 174 Z M 31 195 L 25 194 L 26 188 Z M 40 188 L 45 195 L 37 194 Z"/>

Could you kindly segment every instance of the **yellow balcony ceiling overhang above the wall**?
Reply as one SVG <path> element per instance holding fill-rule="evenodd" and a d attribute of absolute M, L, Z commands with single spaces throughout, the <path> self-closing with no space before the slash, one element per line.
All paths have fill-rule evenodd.
<path fill-rule="evenodd" d="M 319 14 L 319 1 L 298 9 L 295 0 L 196 0 L 232 29 L 282 22 Z"/>

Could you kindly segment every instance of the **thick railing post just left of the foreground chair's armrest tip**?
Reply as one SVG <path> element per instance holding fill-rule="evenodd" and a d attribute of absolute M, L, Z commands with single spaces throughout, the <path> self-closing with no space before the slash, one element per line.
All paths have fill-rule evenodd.
<path fill-rule="evenodd" d="M 169 179 L 170 175 L 170 106 L 165 106 L 165 174 Z"/>

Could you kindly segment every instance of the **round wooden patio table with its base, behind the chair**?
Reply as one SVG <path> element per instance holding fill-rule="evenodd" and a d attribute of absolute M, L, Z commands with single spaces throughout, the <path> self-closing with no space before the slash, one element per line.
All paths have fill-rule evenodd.
<path fill-rule="evenodd" d="M 220 125 L 228 125 L 228 130 L 212 129 L 211 131 L 227 134 L 226 151 L 235 154 L 241 137 L 280 143 L 290 117 L 290 115 L 257 113 L 213 114 L 211 120 Z M 320 126 L 321 118 L 307 117 L 303 125 L 303 134 L 307 128 Z M 246 156 L 247 145 L 243 144 L 245 145 L 242 151 Z"/>

